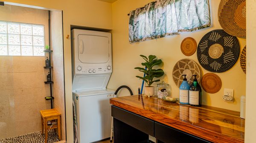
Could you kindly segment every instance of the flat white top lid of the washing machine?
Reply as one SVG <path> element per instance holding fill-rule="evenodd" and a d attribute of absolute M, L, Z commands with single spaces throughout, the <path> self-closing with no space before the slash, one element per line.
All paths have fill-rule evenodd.
<path fill-rule="evenodd" d="M 81 90 L 78 92 L 73 92 L 73 95 L 76 95 L 78 97 L 84 97 L 84 96 L 93 96 L 93 95 L 105 95 L 105 94 L 114 94 L 114 90 L 109 89 L 102 89 L 102 90 Z"/>

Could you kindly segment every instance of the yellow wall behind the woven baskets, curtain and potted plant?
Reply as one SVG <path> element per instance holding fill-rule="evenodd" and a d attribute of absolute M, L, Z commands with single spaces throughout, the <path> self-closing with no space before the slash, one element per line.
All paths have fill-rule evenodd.
<path fill-rule="evenodd" d="M 162 79 L 170 84 L 172 95 L 178 97 L 178 87 L 176 87 L 172 80 L 172 69 L 175 63 L 183 58 L 190 58 L 198 63 L 196 53 L 189 57 L 184 56 L 181 53 L 180 43 L 188 36 L 193 37 L 198 43 L 207 32 L 221 28 L 217 17 L 220 0 L 210 0 L 212 28 L 130 44 L 128 42 L 129 17 L 127 14 L 151 1 L 152 0 L 118 0 L 112 4 L 113 74 L 108 84 L 108 88 L 116 89 L 121 85 L 128 85 L 131 87 L 133 93 L 137 94 L 137 89 L 138 87 L 141 87 L 142 81 L 135 76 L 143 76 L 143 74 L 135 70 L 134 67 L 142 67 L 140 63 L 143 62 L 143 59 L 139 56 L 140 54 L 147 56 L 153 54 L 163 60 L 164 65 L 162 68 L 166 75 Z M 239 42 L 242 50 L 246 40 L 239 38 Z M 204 70 L 204 68 L 201 67 L 201 73 L 203 76 L 205 73 L 209 73 L 209 71 Z M 241 70 L 239 60 L 227 72 L 216 74 L 222 80 L 221 90 L 215 94 L 209 94 L 203 91 L 203 104 L 239 111 L 240 96 L 245 95 L 245 74 Z M 234 103 L 227 103 L 222 100 L 221 97 L 224 93 L 224 88 L 234 89 Z M 121 95 L 129 95 L 127 91 L 122 91 Z"/>

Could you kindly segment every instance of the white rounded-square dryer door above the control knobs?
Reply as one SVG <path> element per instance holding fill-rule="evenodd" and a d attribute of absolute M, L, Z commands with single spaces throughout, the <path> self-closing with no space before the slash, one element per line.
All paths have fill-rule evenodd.
<path fill-rule="evenodd" d="M 78 57 L 82 63 L 106 63 L 109 60 L 109 38 L 105 36 L 78 35 Z"/>

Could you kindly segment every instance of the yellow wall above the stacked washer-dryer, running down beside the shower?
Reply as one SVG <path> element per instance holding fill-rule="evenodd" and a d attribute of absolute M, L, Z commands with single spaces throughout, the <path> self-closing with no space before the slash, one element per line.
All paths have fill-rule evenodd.
<path fill-rule="evenodd" d="M 5 2 L 38 6 L 63 11 L 63 34 L 70 35 L 70 25 L 112 29 L 112 6 L 98 0 L 4 0 Z M 64 72 L 67 142 L 73 143 L 71 41 L 64 38 Z"/>

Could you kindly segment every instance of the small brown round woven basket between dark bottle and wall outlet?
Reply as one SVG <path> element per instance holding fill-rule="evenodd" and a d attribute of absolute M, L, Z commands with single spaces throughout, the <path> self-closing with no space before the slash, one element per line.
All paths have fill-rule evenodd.
<path fill-rule="evenodd" d="M 215 73 L 207 73 L 202 77 L 201 85 L 207 93 L 217 93 L 221 89 L 221 79 Z"/>

